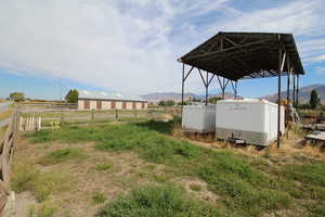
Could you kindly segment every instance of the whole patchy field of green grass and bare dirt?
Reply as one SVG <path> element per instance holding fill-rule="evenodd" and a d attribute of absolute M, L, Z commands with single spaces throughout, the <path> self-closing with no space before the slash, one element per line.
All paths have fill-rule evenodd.
<path fill-rule="evenodd" d="M 29 217 L 324 216 L 324 155 L 288 150 L 191 140 L 178 120 L 66 126 L 22 136 L 12 188 Z"/>

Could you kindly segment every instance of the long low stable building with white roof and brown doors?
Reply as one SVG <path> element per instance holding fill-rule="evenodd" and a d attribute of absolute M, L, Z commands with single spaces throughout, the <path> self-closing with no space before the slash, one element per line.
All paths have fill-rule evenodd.
<path fill-rule="evenodd" d="M 140 97 L 79 90 L 78 110 L 146 110 L 147 101 Z"/>

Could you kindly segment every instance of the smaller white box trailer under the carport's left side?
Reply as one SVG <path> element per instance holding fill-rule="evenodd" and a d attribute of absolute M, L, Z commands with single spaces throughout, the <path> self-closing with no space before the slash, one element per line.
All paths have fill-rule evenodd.
<path fill-rule="evenodd" d="M 182 129 L 192 132 L 213 132 L 216 129 L 216 105 L 183 106 Z"/>

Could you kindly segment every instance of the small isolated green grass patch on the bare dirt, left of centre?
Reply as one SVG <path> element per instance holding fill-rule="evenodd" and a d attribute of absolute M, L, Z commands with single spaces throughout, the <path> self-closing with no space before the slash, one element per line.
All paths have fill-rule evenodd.
<path fill-rule="evenodd" d="M 72 161 L 72 159 L 83 159 L 86 157 L 86 153 L 82 149 L 78 148 L 67 148 L 55 150 L 48 155 L 40 158 L 38 162 L 41 165 L 54 165 L 63 162 Z"/>

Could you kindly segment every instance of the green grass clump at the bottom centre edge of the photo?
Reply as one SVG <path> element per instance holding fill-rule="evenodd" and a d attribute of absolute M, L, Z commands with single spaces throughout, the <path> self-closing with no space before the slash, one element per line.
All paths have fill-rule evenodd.
<path fill-rule="evenodd" d="M 182 189 L 171 186 L 146 186 L 106 204 L 98 216 L 214 217 L 221 215 L 214 207 L 190 199 Z"/>

